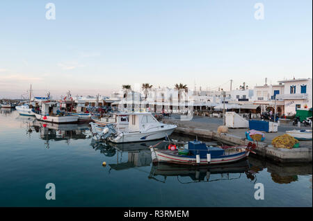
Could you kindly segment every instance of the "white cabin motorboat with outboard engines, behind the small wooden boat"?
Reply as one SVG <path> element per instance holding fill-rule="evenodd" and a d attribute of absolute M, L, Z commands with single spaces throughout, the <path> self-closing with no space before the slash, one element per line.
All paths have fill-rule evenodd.
<path fill-rule="evenodd" d="M 170 136 L 176 127 L 177 125 L 160 123 L 150 112 L 129 113 L 129 125 L 125 130 L 119 130 L 118 127 L 113 127 L 112 125 L 106 125 L 102 133 L 95 133 L 95 125 L 92 123 L 95 139 L 107 138 L 113 143 L 131 143 L 163 139 L 166 136 Z"/>

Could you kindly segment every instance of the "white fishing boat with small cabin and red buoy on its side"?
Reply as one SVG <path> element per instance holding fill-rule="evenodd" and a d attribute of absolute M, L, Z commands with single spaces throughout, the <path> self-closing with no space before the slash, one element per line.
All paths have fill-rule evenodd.
<path fill-rule="evenodd" d="M 58 103 L 47 102 L 42 103 L 41 112 L 35 112 L 38 121 L 49 123 L 77 123 L 79 116 L 64 115 L 58 110 Z"/>

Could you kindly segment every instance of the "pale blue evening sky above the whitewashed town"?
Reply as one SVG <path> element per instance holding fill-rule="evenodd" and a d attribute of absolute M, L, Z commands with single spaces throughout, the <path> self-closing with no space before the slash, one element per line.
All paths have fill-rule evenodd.
<path fill-rule="evenodd" d="M 48 20 L 46 3 L 56 6 Z M 255 3 L 264 19 L 255 19 Z M 1 1 L 0 98 L 312 76 L 312 0 Z"/>

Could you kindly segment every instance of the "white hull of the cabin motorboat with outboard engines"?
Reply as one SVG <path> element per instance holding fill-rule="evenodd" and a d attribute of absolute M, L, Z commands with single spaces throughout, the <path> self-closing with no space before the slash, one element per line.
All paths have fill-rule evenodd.
<path fill-rule="evenodd" d="M 156 130 L 152 132 L 124 132 L 120 133 L 119 136 L 110 137 L 109 140 L 113 143 L 131 143 L 131 142 L 143 142 L 163 139 L 166 136 L 170 136 L 175 130 L 175 127 L 165 130 Z"/>

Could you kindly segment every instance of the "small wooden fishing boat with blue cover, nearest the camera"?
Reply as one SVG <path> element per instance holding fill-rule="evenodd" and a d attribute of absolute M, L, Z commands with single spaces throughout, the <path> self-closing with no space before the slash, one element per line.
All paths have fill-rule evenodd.
<path fill-rule="evenodd" d="M 189 154 L 179 154 L 178 150 L 158 150 L 150 147 L 154 162 L 179 163 L 190 165 L 232 163 L 245 159 L 252 152 L 248 146 L 220 147 L 207 146 L 200 141 L 189 141 Z"/>

